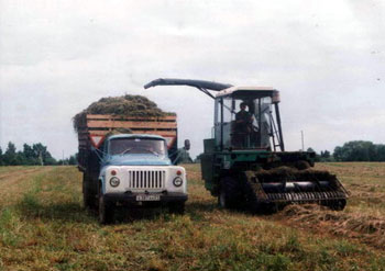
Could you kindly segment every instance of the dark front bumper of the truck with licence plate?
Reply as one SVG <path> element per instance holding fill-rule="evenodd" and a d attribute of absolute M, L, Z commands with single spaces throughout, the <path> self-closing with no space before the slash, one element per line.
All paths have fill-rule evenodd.
<path fill-rule="evenodd" d="M 154 196 L 156 200 L 144 200 L 146 196 Z M 157 199 L 158 197 L 158 199 Z M 167 203 L 167 202 L 186 202 L 188 195 L 185 193 L 108 193 L 105 194 L 105 201 L 121 204 L 141 204 L 141 203 Z"/>

